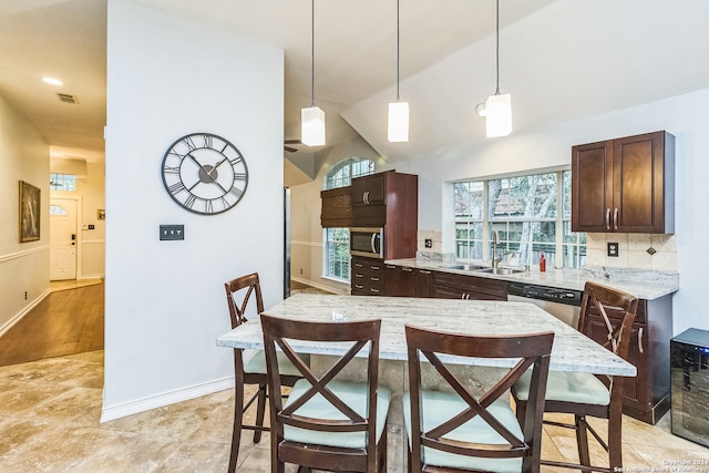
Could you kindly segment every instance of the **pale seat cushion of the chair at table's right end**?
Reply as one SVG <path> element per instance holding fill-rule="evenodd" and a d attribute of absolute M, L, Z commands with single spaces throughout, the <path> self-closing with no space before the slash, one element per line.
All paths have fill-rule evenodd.
<path fill-rule="evenodd" d="M 530 398 L 532 372 L 527 371 L 512 387 L 513 394 L 526 401 Z M 547 400 L 583 404 L 608 405 L 610 393 L 603 382 L 590 373 L 549 371 L 546 381 Z"/>

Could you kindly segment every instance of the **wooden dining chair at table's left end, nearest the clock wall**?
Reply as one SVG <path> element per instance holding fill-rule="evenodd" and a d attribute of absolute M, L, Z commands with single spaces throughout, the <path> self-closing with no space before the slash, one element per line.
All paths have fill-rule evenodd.
<path fill-rule="evenodd" d="M 246 319 L 247 310 L 251 310 L 254 317 L 258 317 L 264 311 L 264 298 L 261 295 L 261 286 L 258 279 L 258 273 L 242 276 L 224 285 L 226 290 L 226 301 L 229 308 L 229 317 L 232 319 L 232 329 L 240 326 Z M 253 296 L 253 298 L 251 298 Z M 254 305 L 256 307 L 254 307 Z M 292 387 L 300 376 L 298 370 L 286 359 L 279 357 L 282 363 L 280 372 L 280 384 L 284 387 Z M 309 358 L 305 357 L 305 362 L 309 362 Z M 266 413 L 267 395 L 267 374 L 266 374 L 266 357 L 263 350 L 250 350 L 244 353 L 242 349 L 234 349 L 234 379 L 235 379 L 235 399 L 234 399 L 234 430 L 232 433 L 232 453 L 229 456 L 229 472 L 236 471 L 236 463 L 239 454 L 239 443 L 242 441 L 242 430 L 254 431 L 254 443 L 261 440 L 261 432 L 268 431 L 268 426 L 264 426 L 264 417 Z M 256 393 L 244 403 L 244 385 L 257 385 Z M 273 391 L 279 392 L 281 390 Z M 279 398 L 279 397 L 276 397 Z M 244 424 L 244 413 L 257 401 L 256 407 L 256 424 Z"/>

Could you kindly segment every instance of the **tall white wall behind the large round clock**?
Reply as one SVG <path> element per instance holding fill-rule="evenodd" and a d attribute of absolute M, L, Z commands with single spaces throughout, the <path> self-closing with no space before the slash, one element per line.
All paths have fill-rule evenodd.
<path fill-rule="evenodd" d="M 284 54 L 109 0 L 105 387 L 102 420 L 224 389 L 224 282 L 258 271 L 282 297 Z M 166 148 L 191 132 L 234 143 L 249 171 L 233 209 L 201 216 L 163 188 Z M 160 224 L 184 224 L 160 241 Z"/>

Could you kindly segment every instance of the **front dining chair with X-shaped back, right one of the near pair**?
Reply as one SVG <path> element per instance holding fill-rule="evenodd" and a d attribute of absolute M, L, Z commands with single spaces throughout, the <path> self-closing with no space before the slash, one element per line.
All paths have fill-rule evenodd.
<path fill-rule="evenodd" d="M 409 471 L 538 472 L 544 388 L 554 333 L 472 337 L 411 326 L 405 332 L 409 392 L 403 395 L 403 412 L 411 448 Z M 440 374 L 435 391 L 422 388 L 421 354 Z M 443 354 L 517 361 L 476 397 L 443 363 Z M 510 405 L 508 390 L 527 371 L 532 390 L 521 424 Z"/>

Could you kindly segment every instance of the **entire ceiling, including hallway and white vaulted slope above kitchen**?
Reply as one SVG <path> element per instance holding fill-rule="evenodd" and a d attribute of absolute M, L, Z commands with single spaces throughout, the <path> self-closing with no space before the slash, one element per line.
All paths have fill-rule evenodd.
<path fill-rule="evenodd" d="M 135 1 L 282 48 L 284 135 L 299 137 L 300 109 L 311 100 L 309 0 Z M 402 97 L 419 141 L 400 151 L 381 138 L 394 99 L 395 0 L 315 4 L 315 101 L 328 145 L 359 133 L 393 158 L 484 140 L 482 119 L 461 124 L 455 113 L 472 114 L 494 92 L 494 0 L 401 0 Z M 0 95 L 53 156 L 103 158 L 105 16 L 105 0 L 0 2 Z M 709 86 L 706 0 L 502 0 L 500 17 L 501 84 L 513 94 L 515 132 Z M 64 85 L 44 84 L 45 75 Z M 79 104 L 61 103 L 58 92 Z M 469 120 L 480 120 L 472 133 Z"/>

